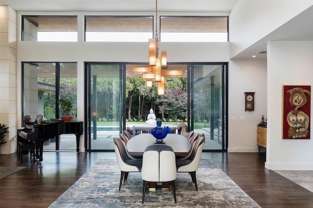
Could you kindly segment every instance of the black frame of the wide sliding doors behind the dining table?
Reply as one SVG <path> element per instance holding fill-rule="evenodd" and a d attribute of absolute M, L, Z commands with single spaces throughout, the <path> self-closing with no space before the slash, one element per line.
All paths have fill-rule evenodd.
<path fill-rule="evenodd" d="M 132 62 L 130 62 L 132 63 Z M 91 115 L 91 94 L 89 90 L 89 83 L 90 83 L 90 68 L 89 66 L 92 64 L 102 64 L 102 65 L 113 65 L 117 64 L 120 65 L 120 108 L 119 108 L 119 131 L 122 133 L 126 129 L 126 118 L 127 118 L 127 111 L 126 111 L 126 64 L 125 62 L 85 62 L 85 151 L 114 151 L 114 150 L 90 150 L 90 139 L 91 138 L 91 120 L 89 120 Z M 174 63 L 173 63 L 174 64 Z M 228 148 L 228 63 L 225 62 L 189 62 L 187 63 L 187 128 L 190 132 L 194 128 L 194 113 L 193 113 L 193 105 L 192 103 L 194 92 L 193 92 L 193 65 L 222 65 L 222 83 L 221 88 L 222 90 L 222 148 L 219 150 L 203 150 L 203 151 L 227 151 Z"/>

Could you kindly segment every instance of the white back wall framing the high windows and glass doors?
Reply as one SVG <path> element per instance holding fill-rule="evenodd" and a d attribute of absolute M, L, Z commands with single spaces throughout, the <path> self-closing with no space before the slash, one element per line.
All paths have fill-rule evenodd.
<path fill-rule="evenodd" d="M 18 12 L 21 15 L 35 15 L 38 13 Z M 47 15 L 47 13 L 45 13 Z M 62 15 L 62 14 L 58 14 Z M 18 73 L 21 79 L 22 61 L 60 61 L 77 62 L 77 78 L 84 83 L 84 61 L 103 62 L 148 62 L 147 42 L 85 42 L 84 41 L 84 15 L 83 13 L 64 13 L 64 15 L 77 15 L 78 41 L 77 42 L 37 42 L 18 41 Z M 89 15 L 92 15 L 89 13 Z M 105 15 L 99 14 L 96 15 Z M 18 25 L 21 19 L 18 18 Z M 18 26 L 18 34 L 21 34 Z M 160 43 L 160 50 L 167 51 L 168 62 L 228 62 L 229 42 L 165 42 Z M 21 82 L 18 81 L 18 103 L 21 103 Z M 78 92 L 84 91 L 83 85 L 77 86 Z M 77 119 L 84 120 L 84 94 L 77 95 Z M 18 109 L 21 109 L 18 106 Z M 21 114 L 21 112 L 20 112 Z M 19 116 L 20 116 L 19 114 Z M 84 138 L 82 135 L 81 138 Z M 84 139 L 80 140 L 80 151 L 85 151 Z M 11 153 L 13 153 L 12 151 Z"/>

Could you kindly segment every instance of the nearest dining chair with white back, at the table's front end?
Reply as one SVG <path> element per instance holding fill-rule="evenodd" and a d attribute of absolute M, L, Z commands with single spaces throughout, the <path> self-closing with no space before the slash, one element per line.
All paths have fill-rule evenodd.
<path fill-rule="evenodd" d="M 143 180 L 142 202 L 149 182 L 169 182 L 176 203 L 175 179 L 177 175 L 175 153 L 167 145 L 148 146 L 142 157 L 141 178 Z"/>

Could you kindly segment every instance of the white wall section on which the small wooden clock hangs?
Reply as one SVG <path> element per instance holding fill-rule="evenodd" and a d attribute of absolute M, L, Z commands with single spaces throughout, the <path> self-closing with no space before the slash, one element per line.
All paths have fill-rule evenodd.
<path fill-rule="evenodd" d="M 267 60 L 231 60 L 228 83 L 228 151 L 257 152 L 257 125 L 267 118 Z M 245 92 L 255 92 L 254 111 L 245 112 Z"/>

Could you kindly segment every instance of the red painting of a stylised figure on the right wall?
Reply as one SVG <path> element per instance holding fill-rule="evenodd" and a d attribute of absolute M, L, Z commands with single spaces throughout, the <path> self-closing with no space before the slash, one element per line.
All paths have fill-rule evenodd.
<path fill-rule="evenodd" d="M 311 86 L 283 86 L 283 139 L 310 139 Z"/>

